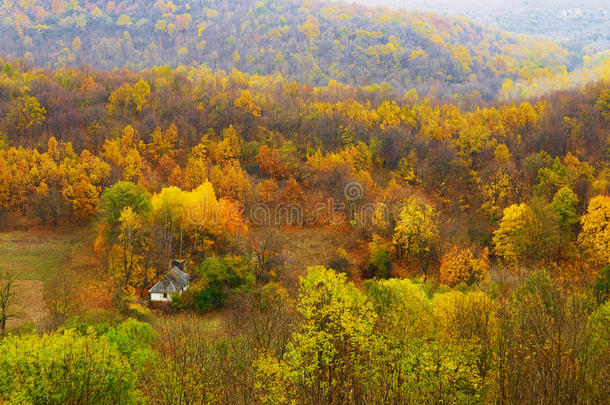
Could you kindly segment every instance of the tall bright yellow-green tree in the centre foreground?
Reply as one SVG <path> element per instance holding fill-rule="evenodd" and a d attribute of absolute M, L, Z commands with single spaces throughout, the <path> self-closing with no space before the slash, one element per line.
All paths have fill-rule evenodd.
<path fill-rule="evenodd" d="M 302 321 L 284 356 L 287 391 L 297 402 L 357 400 L 371 361 L 372 305 L 344 274 L 317 266 L 301 278 L 297 309 Z"/>

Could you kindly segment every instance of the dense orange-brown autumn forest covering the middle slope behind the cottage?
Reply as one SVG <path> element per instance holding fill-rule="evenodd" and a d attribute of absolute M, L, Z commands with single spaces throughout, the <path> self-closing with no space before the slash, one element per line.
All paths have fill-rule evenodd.
<path fill-rule="evenodd" d="M 7 61 L 0 72 L 0 214 L 5 225 L 11 211 L 43 223 L 88 222 L 117 181 L 131 182 L 117 183 L 119 194 L 137 185 L 189 204 L 213 196 L 210 201 L 225 201 L 219 212 L 243 207 L 237 219 L 222 216 L 217 228 L 180 232 L 182 253 L 196 260 L 235 249 L 232 237 L 221 235 L 241 229 L 234 220 L 260 225 L 251 209 L 258 203 L 298 204 L 301 216 L 276 225 L 315 226 L 334 224 L 336 208 L 316 211 L 332 198 L 356 204 L 343 223 L 355 221 L 372 243 L 365 250 L 374 256 L 393 245 L 394 265 L 407 273 L 416 264 L 420 274 L 438 269 L 456 244 L 487 250 L 500 263 L 542 262 L 571 276 L 589 273 L 583 269 L 590 260 L 593 268 L 602 266 L 607 231 L 598 229 L 601 240 L 577 237 L 587 229 L 579 218 L 591 201 L 608 209 L 607 82 L 519 104 L 475 108 L 473 102 L 442 104 L 416 92 L 393 98 L 382 86 L 336 82 L 312 89 L 278 76 L 206 68 L 49 72 Z M 344 187 L 354 182 L 360 190 L 350 200 Z M 164 195 L 169 186 L 183 194 Z M 428 208 L 419 212 L 423 202 Z M 375 203 L 388 208 L 387 220 L 357 217 L 356 210 Z M 405 204 L 415 211 L 404 215 L 430 209 L 427 220 L 438 221 L 421 241 L 425 247 L 400 236 Z M 113 215 L 104 221 L 114 231 L 102 228 L 100 247 L 111 248 L 119 233 L 120 210 Z M 162 242 L 154 239 L 154 229 L 163 228 L 155 218 L 165 220 L 142 218 L 153 238 L 142 249 Z M 520 221 L 528 226 L 525 239 L 512 234 Z M 142 252 L 142 259 L 158 262 L 139 265 L 163 268 L 178 246 L 175 231 L 171 238 L 171 249 L 152 249 L 164 252 L 158 258 Z M 573 266 L 581 270 L 574 273 Z M 359 270 L 365 278 L 375 274 L 366 265 Z M 143 277 L 131 280 L 134 288 L 148 286 L 150 276 Z"/>

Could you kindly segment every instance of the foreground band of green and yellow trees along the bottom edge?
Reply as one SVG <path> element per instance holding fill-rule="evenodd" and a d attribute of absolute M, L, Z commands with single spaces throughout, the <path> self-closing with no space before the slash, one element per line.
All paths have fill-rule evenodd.
<path fill-rule="evenodd" d="M 610 275 L 606 270 L 606 277 Z M 31 403 L 603 403 L 605 290 L 548 273 L 448 289 L 389 279 L 359 289 L 324 267 L 298 296 L 235 296 L 221 324 L 73 318 L 0 341 L 0 398 Z M 86 359 L 86 361 L 85 361 Z"/>

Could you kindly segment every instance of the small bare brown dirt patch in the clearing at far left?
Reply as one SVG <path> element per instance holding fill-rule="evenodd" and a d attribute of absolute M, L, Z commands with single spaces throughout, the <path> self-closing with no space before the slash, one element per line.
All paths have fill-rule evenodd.
<path fill-rule="evenodd" d="M 44 300 L 44 284 L 40 280 L 15 280 L 7 329 L 33 325 L 45 330 L 51 323 L 51 313 Z"/>

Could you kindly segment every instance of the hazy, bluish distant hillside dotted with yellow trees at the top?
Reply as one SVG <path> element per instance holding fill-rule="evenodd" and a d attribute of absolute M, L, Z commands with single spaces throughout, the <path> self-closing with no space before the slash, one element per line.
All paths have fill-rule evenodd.
<path fill-rule="evenodd" d="M 465 18 L 301 0 L 6 1 L 0 22 L 0 53 L 48 68 L 205 64 L 486 99 L 505 79 L 565 86 L 586 54 Z"/>

